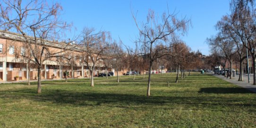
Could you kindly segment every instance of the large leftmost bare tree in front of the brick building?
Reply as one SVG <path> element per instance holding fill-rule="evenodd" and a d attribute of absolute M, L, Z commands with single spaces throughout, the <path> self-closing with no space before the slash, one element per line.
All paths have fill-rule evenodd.
<path fill-rule="evenodd" d="M 59 19 L 62 7 L 59 3 L 48 4 L 44 0 L 1 0 L 0 9 L 0 27 L 21 34 L 23 47 L 31 52 L 32 58 L 24 57 L 37 65 L 37 92 L 41 93 L 43 62 L 57 54 L 49 46 L 53 44 L 52 40 L 56 41 L 60 37 L 61 30 L 68 26 Z"/>

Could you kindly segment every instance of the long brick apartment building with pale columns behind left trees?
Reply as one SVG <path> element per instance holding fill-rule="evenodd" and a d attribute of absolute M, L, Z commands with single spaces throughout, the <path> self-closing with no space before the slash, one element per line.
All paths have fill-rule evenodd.
<path fill-rule="evenodd" d="M 64 43 L 46 43 L 51 50 L 61 51 Z M 68 46 L 71 48 L 71 46 Z M 68 48 L 67 47 L 67 48 Z M 3 32 L 0 31 L 0 82 L 5 81 L 14 81 L 18 80 L 27 80 L 30 76 L 31 80 L 37 79 L 37 68 L 29 68 L 28 64 L 24 62 L 21 56 L 22 54 L 22 36 L 15 33 Z M 79 54 L 77 50 L 70 50 L 68 53 Z M 59 59 L 60 60 L 60 59 Z M 76 66 L 64 65 L 65 61 L 56 61 L 46 60 L 43 62 L 42 68 L 42 79 L 62 79 L 64 77 L 64 72 L 67 70 L 69 72 L 69 77 L 74 78 L 83 78 L 90 77 L 89 70 L 84 66 L 81 60 L 76 60 Z M 31 64 L 33 65 L 33 64 Z M 94 76 L 97 76 L 99 73 L 115 72 L 112 68 L 105 68 L 104 65 L 98 64 L 94 70 Z M 123 74 L 125 71 L 121 71 L 120 74 Z M 16 78 L 18 76 L 18 78 Z"/>

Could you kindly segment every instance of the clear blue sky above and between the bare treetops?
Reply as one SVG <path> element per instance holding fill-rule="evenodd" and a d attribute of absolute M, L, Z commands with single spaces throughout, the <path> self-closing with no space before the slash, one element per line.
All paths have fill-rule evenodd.
<path fill-rule="evenodd" d="M 56 0 L 55 0 L 56 1 Z M 175 11 L 178 16 L 191 18 L 192 27 L 181 36 L 193 51 L 208 55 L 207 37 L 216 34 L 214 28 L 223 15 L 229 14 L 229 0 L 57 0 L 63 7 L 61 18 L 76 27 L 73 34 L 83 28 L 110 31 L 113 39 L 120 39 L 134 47 L 138 30 L 131 11 L 137 12 L 137 20 L 145 21 L 148 9 L 159 16 L 162 12 Z"/>

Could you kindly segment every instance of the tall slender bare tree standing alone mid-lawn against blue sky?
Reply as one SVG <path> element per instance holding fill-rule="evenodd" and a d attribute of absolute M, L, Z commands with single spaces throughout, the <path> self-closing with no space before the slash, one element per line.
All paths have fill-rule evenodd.
<path fill-rule="evenodd" d="M 175 14 L 163 13 L 161 19 L 155 17 L 154 11 L 149 9 L 147 22 L 145 24 L 139 25 L 137 18 L 132 14 L 134 21 L 139 30 L 140 38 L 138 43 L 141 43 L 142 54 L 146 55 L 150 61 L 149 63 L 149 77 L 147 84 L 147 96 L 150 96 L 150 83 L 151 83 L 151 70 L 153 62 L 167 53 L 162 53 L 166 51 L 169 46 L 164 45 L 169 36 L 175 31 L 186 32 L 188 30 L 189 20 L 181 19 L 179 20 Z M 160 21 L 160 23 L 159 23 Z"/>

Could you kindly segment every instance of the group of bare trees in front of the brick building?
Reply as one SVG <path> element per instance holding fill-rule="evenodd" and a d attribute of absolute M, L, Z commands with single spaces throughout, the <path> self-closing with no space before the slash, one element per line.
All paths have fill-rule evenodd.
<path fill-rule="evenodd" d="M 29 68 L 37 68 L 38 93 L 41 93 L 43 65 L 51 62 L 58 63 L 64 70 L 66 68 L 67 80 L 68 67 L 71 67 L 74 77 L 74 68 L 79 60 L 80 65 L 90 70 L 91 86 L 94 86 L 94 68 L 100 66 L 106 57 L 102 54 L 110 47 L 109 32 L 96 32 L 93 28 L 85 28 L 72 40 L 63 40 L 66 37 L 65 31 L 70 30 L 71 25 L 60 19 L 61 11 L 59 3 L 49 4 L 44 0 L 0 2 L 0 29 L 18 34 L 11 39 L 13 44 L 9 45 L 17 45 L 15 56 L 18 56 L 18 60 L 28 64 Z"/>

